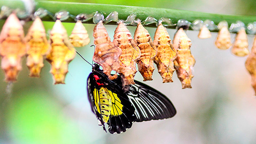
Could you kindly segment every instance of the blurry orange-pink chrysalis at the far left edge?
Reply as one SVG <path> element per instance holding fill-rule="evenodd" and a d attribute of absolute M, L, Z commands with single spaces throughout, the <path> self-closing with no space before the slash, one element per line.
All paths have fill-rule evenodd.
<path fill-rule="evenodd" d="M 26 54 L 24 32 L 20 20 L 12 13 L 7 18 L 0 34 L 1 68 L 6 82 L 16 81 L 22 69 L 21 58 Z"/>

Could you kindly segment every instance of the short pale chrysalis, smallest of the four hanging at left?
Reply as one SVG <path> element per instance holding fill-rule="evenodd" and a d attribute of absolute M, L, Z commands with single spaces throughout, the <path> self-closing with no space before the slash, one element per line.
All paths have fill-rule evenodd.
<path fill-rule="evenodd" d="M 90 43 L 90 38 L 88 36 L 87 30 L 80 20 L 78 20 L 69 36 L 70 42 L 74 47 L 86 46 Z"/>

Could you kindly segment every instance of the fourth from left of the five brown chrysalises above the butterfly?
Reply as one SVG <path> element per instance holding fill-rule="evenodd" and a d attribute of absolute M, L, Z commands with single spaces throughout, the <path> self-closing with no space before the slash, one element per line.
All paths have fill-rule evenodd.
<path fill-rule="evenodd" d="M 157 48 L 157 55 L 154 62 L 157 65 L 159 74 L 163 78 L 163 83 L 173 82 L 173 61 L 177 57 L 177 51 L 173 48 L 170 35 L 162 24 L 159 24 L 156 29 L 156 33 L 154 36 L 154 45 Z"/>

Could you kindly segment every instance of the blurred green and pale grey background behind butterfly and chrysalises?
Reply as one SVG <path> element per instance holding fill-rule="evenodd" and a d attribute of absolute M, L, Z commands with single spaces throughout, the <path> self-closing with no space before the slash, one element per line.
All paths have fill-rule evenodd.
<path fill-rule="evenodd" d="M 176 8 L 224 14 L 255 15 L 255 0 L 64 0 L 66 2 L 90 2 Z M 4 20 L 0 20 L 2 28 Z M 24 25 L 27 32 L 32 22 Z M 63 23 L 68 35 L 74 23 Z M 44 22 L 50 32 L 54 22 Z M 84 24 L 90 44 L 76 50 L 92 61 L 94 24 Z M 116 26 L 106 25 L 113 40 Z M 132 34 L 136 27 L 128 26 Z M 146 28 L 152 37 L 156 28 Z M 173 37 L 176 30 L 168 29 Z M 192 40 L 191 51 L 196 59 L 192 89 L 182 90 L 176 72 L 173 83 L 162 84 L 162 78 L 154 71 L 153 81 L 144 82 L 166 94 L 174 103 L 177 114 L 167 120 L 134 123 L 122 134 L 109 134 L 98 126 L 96 116 L 90 110 L 86 92 L 86 80 L 91 66 L 78 55 L 69 64 L 66 84 L 54 85 L 50 64 L 44 62 L 40 78 L 29 78 L 26 60 L 22 71 L 7 94 L 4 72 L 0 70 L 0 143 L 1 144 L 255 144 L 256 99 L 251 87 L 250 75 L 244 67 L 246 57 L 238 58 L 230 50 L 218 50 L 214 46 L 217 33 L 212 38 L 197 38 L 198 31 L 187 32 Z M 234 40 L 235 34 L 232 34 Z M 254 36 L 248 35 L 249 48 Z M 156 66 L 155 66 L 156 68 Z M 136 80 L 142 81 L 138 72 Z"/>

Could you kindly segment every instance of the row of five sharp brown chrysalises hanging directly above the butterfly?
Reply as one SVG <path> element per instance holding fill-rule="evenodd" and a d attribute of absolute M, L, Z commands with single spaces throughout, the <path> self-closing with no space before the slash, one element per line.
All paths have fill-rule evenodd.
<path fill-rule="evenodd" d="M 163 82 L 173 82 L 172 74 L 176 70 L 182 88 L 191 88 L 191 69 L 195 60 L 190 52 L 191 40 L 183 28 L 175 34 L 173 44 L 162 24 L 156 29 L 154 42 L 140 22 L 134 33 L 134 40 L 122 21 L 115 30 L 113 42 L 110 41 L 102 21 L 94 27 L 93 36 L 96 45 L 93 60 L 102 66 L 110 79 L 117 77 L 116 74 L 110 74 L 115 70 L 121 75 L 124 85 L 134 84 L 137 63 L 144 81 L 152 80 L 155 62 Z"/>

